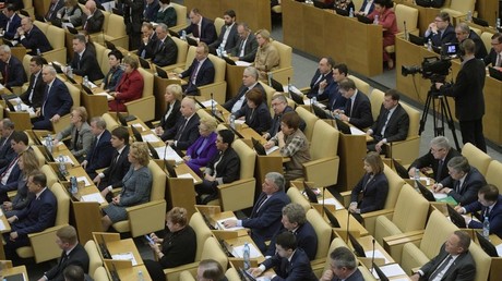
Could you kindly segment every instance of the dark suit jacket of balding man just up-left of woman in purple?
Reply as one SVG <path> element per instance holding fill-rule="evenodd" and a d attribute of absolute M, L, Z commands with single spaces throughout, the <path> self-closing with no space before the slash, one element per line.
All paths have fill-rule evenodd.
<path fill-rule="evenodd" d="M 194 113 L 187 125 L 184 123 L 187 120 L 184 118 L 180 118 L 176 125 L 167 131 L 164 131 L 164 134 L 160 138 L 165 142 L 167 139 L 175 139 L 176 148 L 180 150 L 184 150 L 189 148 L 195 140 L 199 138 L 199 124 L 200 118 L 196 113 Z M 181 129 L 184 126 L 183 132 Z"/>

